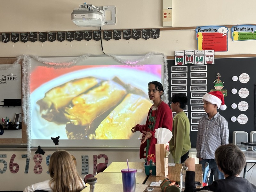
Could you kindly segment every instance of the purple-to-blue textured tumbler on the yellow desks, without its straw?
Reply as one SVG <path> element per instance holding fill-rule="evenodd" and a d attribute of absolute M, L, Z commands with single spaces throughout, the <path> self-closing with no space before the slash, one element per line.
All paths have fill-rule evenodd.
<path fill-rule="evenodd" d="M 136 169 L 122 169 L 123 191 L 135 192 L 136 187 Z"/>

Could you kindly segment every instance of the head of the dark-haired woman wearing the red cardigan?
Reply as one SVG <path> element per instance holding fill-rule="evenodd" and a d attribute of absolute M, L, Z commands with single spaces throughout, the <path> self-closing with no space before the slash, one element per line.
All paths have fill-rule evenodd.
<path fill-rule="evenodd" d="M 161 99 L 163 94 L 164 88 L 160 82 L 151 81 L 148 83 L 148 97 L 150 100 Z"/>

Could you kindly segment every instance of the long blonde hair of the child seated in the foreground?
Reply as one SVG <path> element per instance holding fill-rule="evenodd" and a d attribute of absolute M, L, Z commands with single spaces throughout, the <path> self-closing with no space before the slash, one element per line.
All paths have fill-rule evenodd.
<path fill-rule="evenodd" d="M 76 171 L 73 158 L 67 151 L 60 150 L 52 154 L 49 172 L 52 177 L 50 186 L 53 192 L 80 192 L 85 187 Z"/>

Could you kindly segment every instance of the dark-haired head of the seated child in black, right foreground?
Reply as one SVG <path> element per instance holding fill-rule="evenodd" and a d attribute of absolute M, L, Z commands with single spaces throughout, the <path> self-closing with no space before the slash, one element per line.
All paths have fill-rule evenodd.
<path fill-rule="evenodd" d="M 245 166 L 244 153 L 232 143 L 218 147 L 215 159 L 220 171 L 229 176 L 239 175 Z"/>

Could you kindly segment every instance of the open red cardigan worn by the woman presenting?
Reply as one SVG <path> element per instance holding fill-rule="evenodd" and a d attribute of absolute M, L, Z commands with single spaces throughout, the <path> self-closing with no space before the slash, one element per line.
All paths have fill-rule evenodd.
<path fill-rule="evenodd" d="M 151 108 L 152 107 L 153 106 L 151 106 Z M 149 113 L 150 113 L 151 108 L 148 111 L 148 117 L 149 117 Z M 169 129 L 170 131 L 172 131 L 172 110 L 164 102 L 160 103 L 160 105 L 158 106 L 157 111 L 156 111 L 156 124 L 155 124 L 154 130 L 150 131 L 152 133 L 152 137 L 150 138 L 148 154 L 154 154 L 156 156 L 155 132 L 156 132 L 156 129 L 158 129 L 160 127 L 163 127 L 163 128 L 166 128 L 166 129 Z M 147 121 L 146 121 L 145 125 L 137 124 L 135 126 L 135 129 L 137 131 L 140 131 L 141 133 L 143 133 L 142 131 L 148 131 L 148 118 L 147 118 Z M 170 138 L 170 140 L 171 140 L 171 138 Z M 143 158 L 145 147 L 147 147 L 147 142 L 144 142 L 142 145 L 140 145 L 140 159 Z"/>

